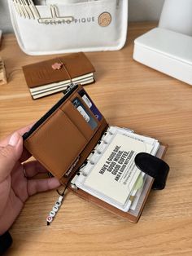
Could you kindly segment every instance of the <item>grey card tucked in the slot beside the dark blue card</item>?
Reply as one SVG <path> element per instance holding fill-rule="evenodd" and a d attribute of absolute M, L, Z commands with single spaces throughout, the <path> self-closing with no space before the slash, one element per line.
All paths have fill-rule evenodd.
<path fill-rule="evenodd" d="M 94 130 L 98 126 L 98 123 L 94 120 L 94 117 L 90 115 L 89 111 L 81 103 L 81 100 L 75 98 L 72 100 L 72 104 L 76 107 L 79 113 L 81 113 L 81 116 L 85 118 L 85 121 L 89 124 L 89 126 Z"/>

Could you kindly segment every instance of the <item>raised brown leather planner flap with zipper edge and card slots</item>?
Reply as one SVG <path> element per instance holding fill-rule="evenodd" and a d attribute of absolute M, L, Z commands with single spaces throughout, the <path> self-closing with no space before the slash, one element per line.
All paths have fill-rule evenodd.
<path fill-rule="evenodd" d="M 81 166 L 103 131 L 107 129 L 104 117 L 98 121 L 81 99 L 81 90 L 84 90 L 82 86 L 78 86 L 72 95 L 24 141 L 25 148 L 33 157 L 58 179 L 71 176 L 73 169 Z M 81 101 L 83 109 L 94 121 L 95 128 L 85 121 L 72 104 L 76 98 Z"/>

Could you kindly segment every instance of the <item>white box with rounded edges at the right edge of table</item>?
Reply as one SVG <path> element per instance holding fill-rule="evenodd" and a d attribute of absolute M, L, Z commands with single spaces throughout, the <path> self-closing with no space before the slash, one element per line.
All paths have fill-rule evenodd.
<path fill-rule="evenodd" d="M 192 85 L 192 38 L 152 29 L 134 42 L 133 59 Z"/>

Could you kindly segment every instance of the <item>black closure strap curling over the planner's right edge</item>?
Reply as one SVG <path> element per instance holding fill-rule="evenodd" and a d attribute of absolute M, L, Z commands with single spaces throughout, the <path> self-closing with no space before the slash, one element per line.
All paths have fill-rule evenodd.
<path fill-rule="evenodd" d="M 169 171 L 169 166 L 165 161 L 146 152 L 141 152 L 135 157 L 135 164 L 138 169 L 155 179 L 153 189 L 164 189 Z"/>

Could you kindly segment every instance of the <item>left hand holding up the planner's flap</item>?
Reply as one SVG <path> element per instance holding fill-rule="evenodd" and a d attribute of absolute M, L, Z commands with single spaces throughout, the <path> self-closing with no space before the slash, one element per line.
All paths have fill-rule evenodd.
<path fill-rule="evenodd" d="M 14 223 L 28 196 L 60 185 L 55 178 L 28 179 L 47 172 L 38 161 L 22 164 L 31 157 L 23 148 L 22 138 L 29 128 L 18 130 L 0 141 L 0 236 Z"/>

